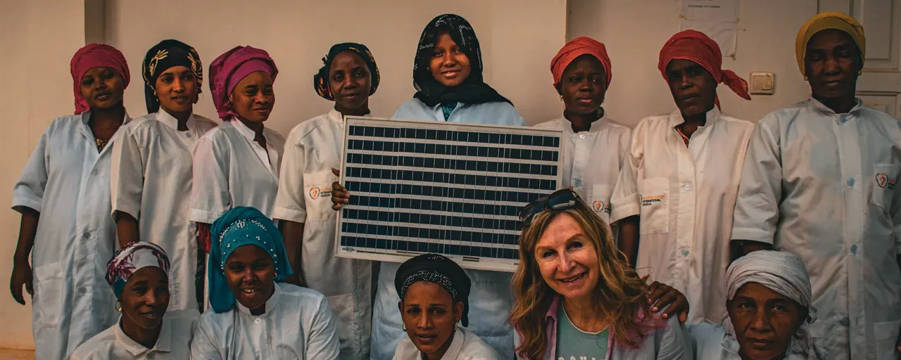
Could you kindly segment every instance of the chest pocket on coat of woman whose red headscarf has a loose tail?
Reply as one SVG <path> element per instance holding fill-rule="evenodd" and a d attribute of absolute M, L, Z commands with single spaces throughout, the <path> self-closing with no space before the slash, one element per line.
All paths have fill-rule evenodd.
<path fill-rule="evenodd" d="M 669 178 L 655 177 L 638 182 L 641 233 L 669 232 Z"/>

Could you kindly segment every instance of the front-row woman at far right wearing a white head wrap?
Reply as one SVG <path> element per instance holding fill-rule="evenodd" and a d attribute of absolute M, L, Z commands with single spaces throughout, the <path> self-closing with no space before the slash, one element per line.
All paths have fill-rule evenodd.
<path fill-rule="evenodd" d="M 760 250 L 739 257 L 726 272 L 722 326 L 692 324 L 699 359 L 824 359 L 807 332 L 816 320 L 810 277 L 800 257 Z"/>

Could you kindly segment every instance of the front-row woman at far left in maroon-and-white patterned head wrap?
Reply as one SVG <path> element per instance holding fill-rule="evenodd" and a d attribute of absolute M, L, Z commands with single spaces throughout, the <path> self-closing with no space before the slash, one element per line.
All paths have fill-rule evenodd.
<path fill-rule="evenodd" d="M 187 359 L 197 311 L 166 311 L 169 260 L 149 242 L 132 242 L 107 264 L 119 321 L 75 349 L 72 359 Z"/>

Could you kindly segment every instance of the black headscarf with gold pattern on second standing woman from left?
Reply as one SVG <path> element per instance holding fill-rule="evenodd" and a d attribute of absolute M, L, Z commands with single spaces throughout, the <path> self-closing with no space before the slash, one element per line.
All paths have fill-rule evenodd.
<path fill-rule="evenodd" d="M 141 63 L 141 75 L 144 76 L 144 101 L 147 112 L 159 111 L 159 98 L 154 91 L 157 77 L 169 67 L 187 67 L 197 78 L 197 94 L 202 93 L 204 85 L 204 66 L 200 63 L 197 50 L 179 40 L 162 40 L 147 50 L 144 62 Z M 196 99 L 195 99 L 196 101 Z"/>

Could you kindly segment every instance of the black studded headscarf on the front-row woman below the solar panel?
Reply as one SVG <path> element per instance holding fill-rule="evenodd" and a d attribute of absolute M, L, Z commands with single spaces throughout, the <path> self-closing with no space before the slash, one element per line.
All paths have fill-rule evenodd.
<path fill-rule="evenodd" d="M 469 326 L 469 288 L 472 283 L 460 265 L 438 254 L 423 254 L 405 261 L 395 275 L 395 290 L 400 300 L 404 301 L 410 285 L 421 281 L 441 286 L 451 294 L 454 303 L 462 302 L 460 322 L 464 327 Z"/>

